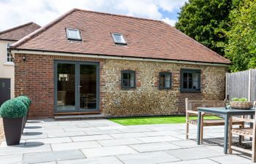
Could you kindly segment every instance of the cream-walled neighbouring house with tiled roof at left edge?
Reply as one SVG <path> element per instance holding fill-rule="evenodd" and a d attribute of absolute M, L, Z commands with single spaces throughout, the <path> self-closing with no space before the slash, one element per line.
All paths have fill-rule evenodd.
<path fill-rule="evenodd" d="M 14 63 L 7 49 L 10 44 L 40 28 L 36 23 L 26 23 L 0 31 L 0 106 L 14 97 Z"/>

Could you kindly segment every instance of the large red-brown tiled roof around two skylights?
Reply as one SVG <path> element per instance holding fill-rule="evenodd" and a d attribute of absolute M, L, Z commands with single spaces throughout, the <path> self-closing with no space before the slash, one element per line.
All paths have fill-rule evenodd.
<path fill-rule="evenodd" d="M 79 29 L 82 41 L 68 40 L 66 28 Z M 112 33 L 122 34 L 127 46 L 116 45 L 111 37 Z M 162 21 L 82 9 L 72 9 L 12 44 L 12 48 L 44 52 L 230 63 L 230 60 Z"/>

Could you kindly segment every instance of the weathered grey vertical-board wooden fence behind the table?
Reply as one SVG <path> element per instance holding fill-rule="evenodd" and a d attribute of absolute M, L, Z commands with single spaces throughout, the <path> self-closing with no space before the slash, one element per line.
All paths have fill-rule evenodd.
<path fill-rule="evenodd" d="M 256 69 L 226 74 L 226 98 L 256 100 Z"/>

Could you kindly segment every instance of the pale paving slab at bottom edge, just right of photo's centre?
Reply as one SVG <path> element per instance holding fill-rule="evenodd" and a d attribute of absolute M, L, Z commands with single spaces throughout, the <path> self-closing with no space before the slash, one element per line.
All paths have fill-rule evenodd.
<path fill-rule="evenodd" d="M 125 164 L 156 164 L 180 160 L 167 152 L 144 152 L 135 155 L 117 155 L 117 157 Z"/>

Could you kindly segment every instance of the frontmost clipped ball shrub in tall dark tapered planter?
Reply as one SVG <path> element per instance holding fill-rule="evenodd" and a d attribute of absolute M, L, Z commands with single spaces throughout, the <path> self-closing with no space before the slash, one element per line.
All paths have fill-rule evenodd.
<path fill-rule="evenodd" d="M 0 116 L 3 118 L 4 134 L 8 146 L 20 144 L 23 117 L 26 114 L 26 105 L 20 98 L 13 98 L 1 105 Z"/>

